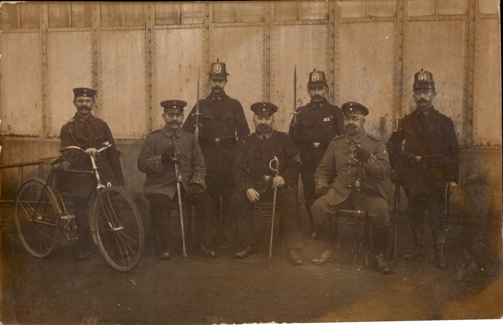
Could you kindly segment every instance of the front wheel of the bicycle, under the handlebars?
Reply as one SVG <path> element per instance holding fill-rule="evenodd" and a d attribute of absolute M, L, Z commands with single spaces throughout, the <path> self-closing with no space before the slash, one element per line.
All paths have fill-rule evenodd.
<path fill-rule="evenodd" d="M 116 270 L 131 271 L 143 250 L 143 223 L 127 192 L 116 186 L 100 190 L 91 223 L 103 257 Z"/>

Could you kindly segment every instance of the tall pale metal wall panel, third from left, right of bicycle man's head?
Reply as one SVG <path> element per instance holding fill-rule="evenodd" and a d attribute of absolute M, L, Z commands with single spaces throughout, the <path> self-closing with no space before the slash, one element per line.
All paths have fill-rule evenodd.
<path fill-rule="evenodd" d="M 139 139 L 147 133 L 145 31 L 106 30 L 101 39 L 99 116 L 108 123 L 114 137 Z"/>

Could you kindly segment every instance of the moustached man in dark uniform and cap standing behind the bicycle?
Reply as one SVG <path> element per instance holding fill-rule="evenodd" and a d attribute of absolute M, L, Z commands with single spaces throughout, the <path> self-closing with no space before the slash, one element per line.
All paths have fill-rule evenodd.
<path fill-rule="evenodd" d="M 73 105 L 77 112 L 61 128 L 61 149 L 63 157 L 70 162 L 69 169 L 91 171 L 92 163 L 89 155 L 95 158 L 96 166 L 100 170 L 103 184 L 124 185 L 124 177 L 119 161 L 119 152 L 115 147 L 112 132 L 107 123 L 91 114 L 94 108 L 96 91 L 89 88 L 73 89 Z M 99 154 L 98 149 L 112 144 L 105 152 Z M 68 146 L 78 146 L 85 152 L 76 149 L 66 150 Z M 78 254 L 77 259 L 89 257 L 89 223 L 88 208 L 90 194 L 96 186 L 94 175 L 75 174 L 66 178 L 61 184 L 64 191 L 73 196 L 75 225 L 77 227 Z"/>

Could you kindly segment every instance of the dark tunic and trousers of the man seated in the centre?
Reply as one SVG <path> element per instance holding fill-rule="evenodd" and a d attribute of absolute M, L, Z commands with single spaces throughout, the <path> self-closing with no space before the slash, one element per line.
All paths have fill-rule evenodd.
<path fill-rule="evenodd" d="M 293 140 L 286 133 L 274 130 L 269 135 L 253 133 L 244 137 L 236 150 L 232 175 L 237 190 L 230 198 L 230 207 L 234 212 L 242 246 L 257 242 L 253 224 L 254 204 L 249 202 L 245 192 L 255 189 L 260 195 L 260 202 L 272 202 L 272 179 L 275 174 L 270 171 L 269 162 L 275 156 L 279 160 L 280 176 L 285 180 L 285 185 L 278 188 L 277 194 L 277 204 L 282 209 L 281 228 L 285 249 L 301 247 L 297 189 L 302 163 Z"/>

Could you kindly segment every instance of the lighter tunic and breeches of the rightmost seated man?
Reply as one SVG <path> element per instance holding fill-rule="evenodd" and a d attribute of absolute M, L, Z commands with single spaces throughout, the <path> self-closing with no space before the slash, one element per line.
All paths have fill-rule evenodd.
<path fill-rule="evenodd" d="M 371 158 L 363 164 L 365 175 L 360 178 L 360 162 L 351 156 L 360 145 Z M 376 223 L 389 222 L 389 211 L 383 181 L 389 177 L 389 157 L 384 141 L 363 131 L 356 137 L 340 135 L 332 140 L 314 174 L 316 188 L 328 187 L 311 207 L 314 220 L 322 221 L 339 209 L 367 211 Z M 358 195 L 358 182 L 361 191 Z"/>

